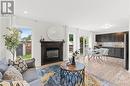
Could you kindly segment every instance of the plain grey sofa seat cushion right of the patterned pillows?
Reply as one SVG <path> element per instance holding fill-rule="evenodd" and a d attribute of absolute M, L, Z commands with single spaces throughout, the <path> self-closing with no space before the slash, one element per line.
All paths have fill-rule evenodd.
<path fill-rule="evenodd" d="M 35 68 L 30 68 L 23 73 L 23 79 L 27 82 L 38 79 L 38 75 Z"/>

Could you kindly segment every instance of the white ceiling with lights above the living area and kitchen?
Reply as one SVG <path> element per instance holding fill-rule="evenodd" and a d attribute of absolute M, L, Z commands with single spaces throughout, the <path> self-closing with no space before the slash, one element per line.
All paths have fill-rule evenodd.
<path fill-rule="evenodd" d="M 128 8 L 129 0 L 15 0 L 16 15 L 90 31 L 127 27 Z"/>

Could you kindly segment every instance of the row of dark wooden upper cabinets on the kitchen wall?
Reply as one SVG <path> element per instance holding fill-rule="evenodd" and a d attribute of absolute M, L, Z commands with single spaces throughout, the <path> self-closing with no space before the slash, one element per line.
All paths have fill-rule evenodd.
<path fill-rule="evenodd" d="M 96 35 L 96 42 L 124 42 L 124 33 Z"/>

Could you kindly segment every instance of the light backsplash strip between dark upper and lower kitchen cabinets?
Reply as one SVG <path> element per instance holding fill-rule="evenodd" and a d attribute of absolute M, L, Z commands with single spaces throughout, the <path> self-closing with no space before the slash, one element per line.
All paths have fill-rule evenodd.
<path fill-rule="evenodd" d="M 125 46 L 124 42 L 97 42 L 96 46 L 102 45 L 103 47 L 121 47 Z"/>

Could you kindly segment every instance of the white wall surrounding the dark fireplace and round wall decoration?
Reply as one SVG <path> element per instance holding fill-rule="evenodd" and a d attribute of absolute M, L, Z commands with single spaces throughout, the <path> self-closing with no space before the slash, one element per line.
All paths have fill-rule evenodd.
<path fill-rule="evenodd" d="M 50 39 L 48 38 L 48 35 L 47 35 L 47 29 L 49 27 L 53 27 L 53 26 L 54 27 L 55 26 L 64 27 L 62 25 L 58 25 L 58 24 L 54 24 L 54 23 L 36 21 L 36 20 L 24 18 L 24 17 L 19 17 L 19 16 L 14 17 L 13 26 L 16 26 L 19 28 L 29 27 L 32 29 L 32 57 L 36 59 L 37 66 L 41 65 L 41 45 L 40 45 L 41 36 L 46 41 L 50 41 Z M 58 33 L 60 33 L 60 32 L 58 32 Z M 64 39 L 64 40 L 66 41 L 66 39 Z M 66 57 L 66 52 L 65 52 L 66 43 L 64 43 L 63 48 L 64 48 L 63 57 L 65 58 Z"/>

